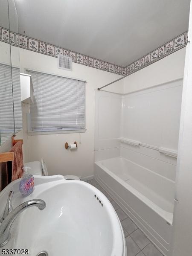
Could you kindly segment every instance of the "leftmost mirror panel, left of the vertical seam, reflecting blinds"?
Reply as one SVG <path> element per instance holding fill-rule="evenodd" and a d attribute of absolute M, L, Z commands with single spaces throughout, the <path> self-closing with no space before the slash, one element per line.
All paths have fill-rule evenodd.
<path fill-rule="evenodd" d="M 0 145 L 14 134 L 9 5 L 0 1 Z"/>

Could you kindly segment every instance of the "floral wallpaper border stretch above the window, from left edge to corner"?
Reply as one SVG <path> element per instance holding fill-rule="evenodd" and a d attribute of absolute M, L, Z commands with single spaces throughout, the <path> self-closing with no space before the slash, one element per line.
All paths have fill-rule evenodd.
<path fill-rule="evenodd" d="M 8 29 L 0 27 L 0 41 L 28 49 L 34 52 L 39 52 L 45 55 L 49 55 L 57 58 L 58 54 L 69 56 L 73 59 L 73 62 L 83 64 L 89 67 L 94 67 L 100 70 L 105 70 L 110 73 L 116 73 L 122 75 L 122 67 L 109 62 L 98 60 L 87 55 L 80 54 L 78 52 L 70 51 L 61 47 L 54 46 L 52 44 L 45 43 L 34 38 L 30 38 L 24 35 L 19 35 L 14 32 L 9 32 Z"/>

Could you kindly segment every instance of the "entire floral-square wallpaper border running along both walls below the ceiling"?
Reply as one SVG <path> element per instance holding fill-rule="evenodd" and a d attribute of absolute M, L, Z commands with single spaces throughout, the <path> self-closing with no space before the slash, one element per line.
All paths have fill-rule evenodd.
<path fill-rule="evenodd" d="M 87 55 L 82 55 L 68 49 L 57 47 L 34 38 L 19 35 L 14 32 L 9 32 L 8 29 L 3 27 L 0 27 L 0 41 L 6 43 L 10 42 L 11 45 L 15 45 L 17 47 L 28 49 L 34 52 L 39 52 L 55 58 L 57 58 L 58 54 L 69 56 L 75 63 L 125 76 L 129 74 L 131 75 L 132 73 L 147 67 L 148 65 L 166 57 L 167 55 L 176 52 L 178 49 L 185 47 L 188 41 L 188 31 L 177 36 L 168 43 L 163 44 L 157 49 L 149 52 L 147 55 L 144 55 L 126 67 L 120 67 L 115 64 L 98 60 Z"/>

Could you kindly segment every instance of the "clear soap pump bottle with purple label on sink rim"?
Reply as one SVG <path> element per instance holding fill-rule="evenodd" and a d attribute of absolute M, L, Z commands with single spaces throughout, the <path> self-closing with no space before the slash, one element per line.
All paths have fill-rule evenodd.
<path fill-rule="evenodd" d="M 21 192 L 21 195 L 23 197 L 26 197 L 30 195 L 33 192 L 33 187 L 34 187 L 34 177 L 33 175 L 30 174 L 30 167 L 25 166 L 23 167 L 23 177 L 20 180 L 19 184 L 19 190 Z"/>

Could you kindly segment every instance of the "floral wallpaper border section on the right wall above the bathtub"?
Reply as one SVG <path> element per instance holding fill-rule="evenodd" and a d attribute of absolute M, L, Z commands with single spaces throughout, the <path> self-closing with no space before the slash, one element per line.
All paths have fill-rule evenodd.
<path fill-rule="evenodd" d="M 183 34 L 177 36 L 176 38 L 172 39 L 166 44 L 163 44 L 159 48 L 149 52 L 147 55 L 144 55 L 137 61 L 134 61 L 130 65 L 122 68 L 122 75 L 132 74 L 143 67 L 146 67 L 155 61 L 158 61 L 167 55 L 176 52 L 178 49 L 181 49 L 186 46 L 188 41 L 188 31 L 184 32 Z"/>

